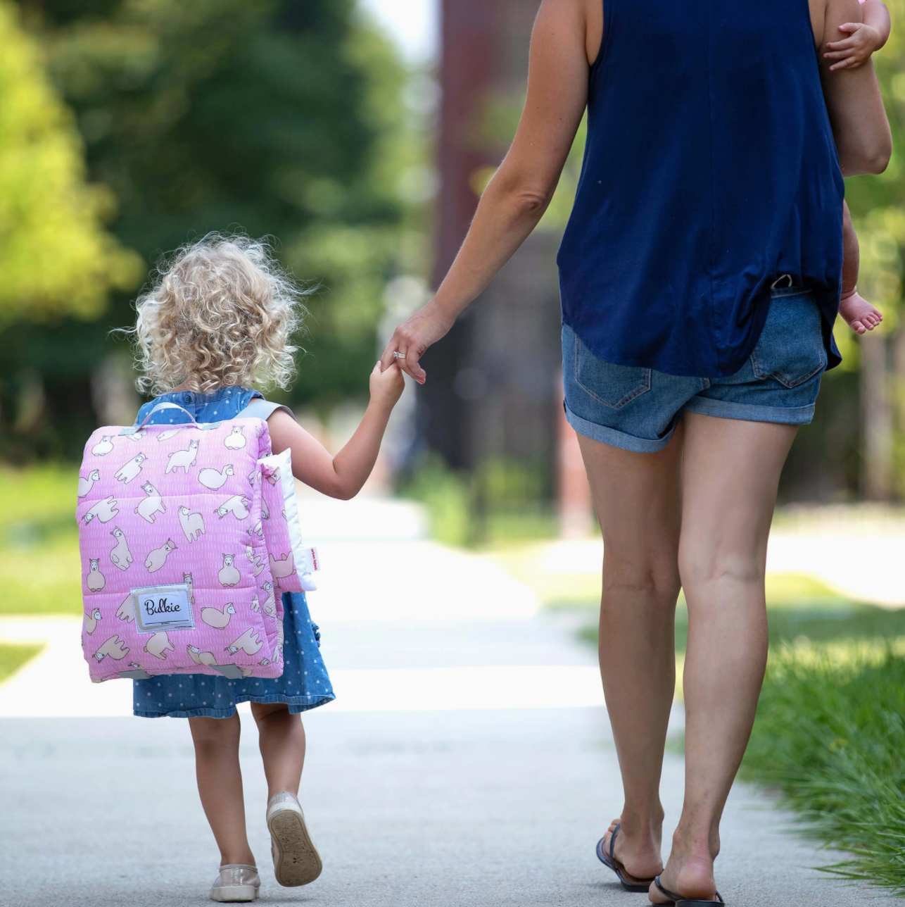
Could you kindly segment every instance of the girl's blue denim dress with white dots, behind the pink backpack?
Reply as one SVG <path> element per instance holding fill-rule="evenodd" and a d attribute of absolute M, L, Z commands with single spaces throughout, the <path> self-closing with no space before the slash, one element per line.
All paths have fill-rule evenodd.
<path fill-rule="evenodd" d="M 220 422 L 235 418 L 253 397 L 263 395 L 250 387 L 223 387 L 213 394 L 163 394 L 141 407 L 135 424 L 141 423 L 158 403 L 179 404 L 198 422 Z M 148 424 L 188 421 L 185 414 L 170 409 L 153 414 Z M 295 715 L 336 698 L 320 655 L 320 632 L 311 621 L 305 594 L 284 592 L 283 609 L 286 640 L 281 677 L 228 680 L 207 674 L 174 674 L 133 680 L 134 714 L 143 718 L 229 718 L 239 702 L 285 702 Z"/>

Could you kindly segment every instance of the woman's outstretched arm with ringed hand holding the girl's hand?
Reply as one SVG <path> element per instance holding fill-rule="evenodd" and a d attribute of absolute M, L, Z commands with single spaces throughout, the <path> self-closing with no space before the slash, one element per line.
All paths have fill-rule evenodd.
<path fill-rule="evenodd" d="M 547 210 L 588 101 L 588 9 L 584 0 L 540 5 L 531 35 L 528 95 L 509 153 L 484 190 L 436 296 L 396 328 L 381 359 L 384 368 L 393 363 L 394 351 L 404 352 L 399 365 L 423 384 L 424 350 L 453 327 Z"/>

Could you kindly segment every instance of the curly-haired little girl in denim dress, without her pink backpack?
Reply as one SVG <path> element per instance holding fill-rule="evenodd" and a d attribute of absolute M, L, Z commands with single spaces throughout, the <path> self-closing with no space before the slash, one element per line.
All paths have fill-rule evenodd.
<path fill-rule="evenodd" d="M 254 414 L 267 418 L 274 453 L 291 449 L 296 478 L 346 500 L 361 490 L 374 468 L 390 412 L 403 392 L 403 375 L 395 365 L 384 372 L 379 363 L 375 366 L 365 417 L 335 457 L 327 453 L 285 406 L 268 404 L 248 386 L 287 387 L 296 351 L 290 340 L 304 313 L 301 295 L 263 243 L 211 234 L 180 249 L 136 303 L 138 385 L 159 395 L 141 407 L 136 424 L 164 401 L 204 423 L 235 418 L 257 400 Z M 150 422 L 173 419 L 188 421 L 170 409 L 155 413 Z M 169 675 L 133 681 L 135 715 L 189 719 L 201 805 L 220 850 L 220 872 L 210 890 L 214 901 L 253 901 L 260 886 L 245 828 L 239 702 L 251 703 L 258 725 L 277 882 L 304 885 L 321 871 L 297 800 L 305 760 L 299 713 L 334 695 L 305 595 L 285 593 L 283 606 L 280 678 Z"/>

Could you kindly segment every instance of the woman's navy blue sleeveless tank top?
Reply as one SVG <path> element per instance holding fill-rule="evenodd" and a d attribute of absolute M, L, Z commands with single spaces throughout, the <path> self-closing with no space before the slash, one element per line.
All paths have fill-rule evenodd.
<path fill-rule="evenodd" d="M 733 375 L 791 274 L 837 365 L 843 195 L 807 0 L 604 0 L 558 258 L 595 356 Z"/>

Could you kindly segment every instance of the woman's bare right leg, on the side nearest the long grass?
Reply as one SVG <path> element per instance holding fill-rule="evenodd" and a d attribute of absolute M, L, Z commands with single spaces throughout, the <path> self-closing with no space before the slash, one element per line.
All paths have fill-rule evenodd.
<path fill-rule="evenodd" d="M 767 536 L 795 433 L 793 425 L 686 414 L 686 790 L 662 881 L 689 898 L 714 896 L 720 817 L 754 724 L 767 655 Z M 665 902 L 651 888 L 651 900 Z"/>

